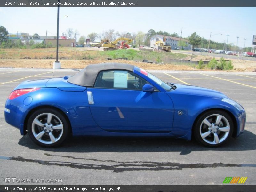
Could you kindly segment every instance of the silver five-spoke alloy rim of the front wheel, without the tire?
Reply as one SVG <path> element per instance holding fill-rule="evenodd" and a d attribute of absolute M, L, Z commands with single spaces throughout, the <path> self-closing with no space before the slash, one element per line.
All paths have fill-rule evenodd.
<path fill-rule="evenodd" d="M 200 125 L 200 135 L 209 144 L 218 144 L 227 139 L 230 131 L 228 119 L 220 114 L 207 116 Z"/>

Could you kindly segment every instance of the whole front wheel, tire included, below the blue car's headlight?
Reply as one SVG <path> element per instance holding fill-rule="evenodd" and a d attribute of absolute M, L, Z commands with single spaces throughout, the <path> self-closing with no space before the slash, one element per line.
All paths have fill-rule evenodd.
<path fill-rule="evenodd" d="M 194 135 L 207 147 L 218 147 L 226 143 L 233 133 L 233 122 L 227 112 L 214 110 L 202 114 L 196 121 Z"/>

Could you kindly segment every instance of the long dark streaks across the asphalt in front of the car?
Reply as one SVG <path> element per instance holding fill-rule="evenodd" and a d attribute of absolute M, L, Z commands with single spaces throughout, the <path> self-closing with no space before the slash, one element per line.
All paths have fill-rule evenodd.
<path fill-rule="evenodd" d="M 51 155 L 44 154 L 47 156 L 60 156 L 60 155 Z M 44 161 L 37 159 L 26 159 L 23 157 L 9 157 L 8 160 L 21 161 L 21 162 L 33 162 L 42 165 L 56 165 L 56 166 L 65 166 L 75 169 L 94 169 L 94 170 L 108 170 L 114 173 L 120 173 L 124 171 L 162 171 L 162 170 L 182 170 L 182 169 L 194 169 L 194 168 L 216 168 L 216 167 L 256 167 L 256 164 L 224 164 L 224 163 L 173 163 L 173 162 L 153 162 L 153 161 L 132 161 L 132 162 L 117 162 L 113 160 L 97 160 L 97 159 L 87 159 L 87 158 L 77 158 L 72 156 L 60 156 L 72 159 L 82 159 L 82 160 L 91 160 L 96 162 L 111 162 L 116 163 L 114 165 L 105 165 L 105 164 L 85 164 L 85 163 L 74 163 L 74 162 L 63 162 L 63 161 Z M 5 158 L 6 159 L 6 158 Z"/>

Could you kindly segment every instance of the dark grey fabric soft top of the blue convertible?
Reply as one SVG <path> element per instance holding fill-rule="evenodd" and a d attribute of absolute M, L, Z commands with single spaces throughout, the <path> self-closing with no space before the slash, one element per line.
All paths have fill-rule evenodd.
<path fill-rule="evenodd" d="M 68 78 L 68 82 L 84 87 L 92 87 L 100 71 L 119 69 L 133 71 L 134 65 L 124 63 L 99 63 L 86 66 L 83 70 Z"/>

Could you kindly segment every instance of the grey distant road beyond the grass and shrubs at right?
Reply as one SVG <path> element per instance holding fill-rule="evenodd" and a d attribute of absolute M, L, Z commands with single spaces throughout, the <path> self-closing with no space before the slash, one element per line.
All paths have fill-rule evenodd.
<path fill-rule="evenodd" d="M 207 55 L 207 52 L 198 52 L 198 51 L 172 50 L 172 53 L 195 54 L 195 55 L 204 55 L 204 56 Z M 224 57 L 224 58 L 228 58 L 228 59 L 237 59 L 238 58 L 238 56 L 235 56 L 235 55 L 215 54 L 215 53 L 208 53 L 208 56 Z M 244 57 L 244 56 L 240 55 L 239 60 L 256 61 L 256 57 Z"/>

